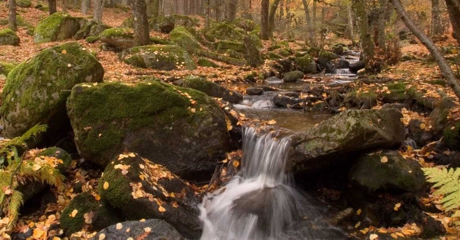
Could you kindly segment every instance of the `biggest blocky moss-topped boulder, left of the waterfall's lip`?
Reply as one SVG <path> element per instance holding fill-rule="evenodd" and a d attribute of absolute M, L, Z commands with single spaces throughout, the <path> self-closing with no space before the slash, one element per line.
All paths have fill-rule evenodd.
<path fill-rule="evenodd" d="M 127 149 L 186 175 L 214 169 L 228 149 L 224 113 L 202 92 L 155 81 L 85 85 L 67 109 L 80 155 L 99 166 Z"/>

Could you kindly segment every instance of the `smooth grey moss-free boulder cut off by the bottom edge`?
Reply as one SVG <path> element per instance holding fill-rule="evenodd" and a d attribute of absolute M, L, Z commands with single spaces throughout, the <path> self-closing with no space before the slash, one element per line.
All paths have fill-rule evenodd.
<path fill-rule="evenodd" d="M 121 228 L 120 228 L 121 227 Z M 150 231 L 146 231 L 145 229 Z M 99 231 L 90 240 L 104 239 L 136 239 L 139 236 L 143 240 L 185 240 L 185 238 L 178 233 L 167 222 L 160 219 L 147 219 L 144 221 L 126 221 L 119 224 L 111 225 Z"/>

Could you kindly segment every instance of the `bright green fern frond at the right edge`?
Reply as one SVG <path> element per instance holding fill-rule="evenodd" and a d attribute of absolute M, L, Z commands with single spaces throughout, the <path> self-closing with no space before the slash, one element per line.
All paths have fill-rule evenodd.
<path fill-rule="evenodd" d="M 447 211 L 460 207 L 460 167 L 456 169 L 425 167 L 422 168 L 426 175 L 426 181 L 434 183 L 436 195 L 444 195 L 440 203 Z"/>

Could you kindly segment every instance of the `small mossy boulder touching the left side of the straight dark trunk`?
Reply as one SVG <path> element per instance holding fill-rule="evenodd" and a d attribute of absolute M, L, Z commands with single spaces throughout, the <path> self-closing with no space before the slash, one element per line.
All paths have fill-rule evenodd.
<path fill-rule="evenodd" d="M 98 35 L 99 40 L 118 49 L 134 46 L 134 31 L 130 28 L 109 28 Z"/>

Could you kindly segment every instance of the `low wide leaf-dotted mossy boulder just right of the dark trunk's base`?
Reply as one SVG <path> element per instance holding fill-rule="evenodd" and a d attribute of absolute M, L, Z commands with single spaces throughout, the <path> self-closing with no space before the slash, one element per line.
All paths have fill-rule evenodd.
<path fill-rule="evenodd" d="M 121 59 L 136 67 L 158 70 L 196 69 L 190 55 L 176 45 L 148 45 L 133 47 L 121 54 Z"/>

